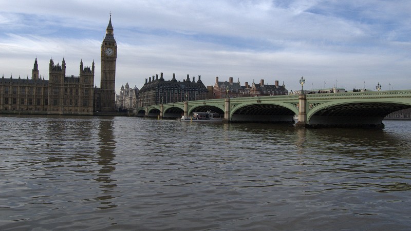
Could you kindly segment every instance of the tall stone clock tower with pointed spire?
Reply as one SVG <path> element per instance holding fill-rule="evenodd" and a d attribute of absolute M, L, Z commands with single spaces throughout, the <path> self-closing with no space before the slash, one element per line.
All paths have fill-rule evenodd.
<path fill-rule="evenodd" d="M 116 110 L 116 59 L 117 44 L 110 21 L 106 29 L 106 36 L 101 44 L 101 111 L 113 112 Z"/>

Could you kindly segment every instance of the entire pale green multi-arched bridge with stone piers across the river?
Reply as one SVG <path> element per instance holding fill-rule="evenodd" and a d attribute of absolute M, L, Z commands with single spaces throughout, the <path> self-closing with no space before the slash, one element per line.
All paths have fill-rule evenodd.
<path fill-rule="evenodd" d="M 179 118 L 208 110 L 226 123 L 293 123 L 297 127 L 384 128 L 391 112 L 411 108 L 411 90 L 273 95 L 184 101 L 132 109 L 138 117 Z"/>

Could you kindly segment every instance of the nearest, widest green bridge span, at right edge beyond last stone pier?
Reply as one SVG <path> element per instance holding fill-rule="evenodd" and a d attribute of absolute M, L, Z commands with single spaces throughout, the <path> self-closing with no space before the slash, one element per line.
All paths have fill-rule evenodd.
<path fill-rule="evenodd" d="M 307 94 L 306 126 L 383 128 L 382 121 L 388 114 L 411 108 L 410 93 L 376 91 Z"/>

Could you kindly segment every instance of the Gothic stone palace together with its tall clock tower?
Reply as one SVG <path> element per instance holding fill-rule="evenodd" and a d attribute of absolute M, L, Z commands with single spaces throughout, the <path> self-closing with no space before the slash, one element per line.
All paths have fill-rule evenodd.
<path fill-rule="evenodd" d="M 79 76 L 66 75 L 66 62 L 54 64 L 50 58 L 49 78 L 39 75 L 37 58 L 31 79 L 0 79 L 0 113 L 85 114 L 114 112 L 117 44 L 111 25 L 101 45 L 101 88 L 94 86 L 95 64 L 80 62 Z"/>

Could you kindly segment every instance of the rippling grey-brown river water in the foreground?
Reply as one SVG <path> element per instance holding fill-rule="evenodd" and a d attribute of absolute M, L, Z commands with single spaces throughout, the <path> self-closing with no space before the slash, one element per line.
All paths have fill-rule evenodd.
<path fill-rule="evenodd" d="M 0 115 L 0 229 L 409 230 L 411 121 L 384 123 Z"/>

